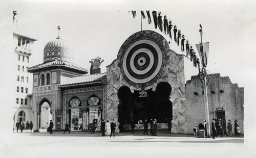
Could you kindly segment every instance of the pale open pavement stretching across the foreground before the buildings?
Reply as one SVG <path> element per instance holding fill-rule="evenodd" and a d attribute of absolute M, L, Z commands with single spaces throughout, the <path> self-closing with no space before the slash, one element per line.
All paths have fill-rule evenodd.
<path fill-rule="evenodd" d="M 195 157 L 211 150 L 230 152 L 244 157 L 243 137 L 198 138 L 193 135 L 169 134 L 158 131 L 158 136 L 140 132 L 117 133 L 115 138 L 101 137 L 100 133 L 85 132 L 13 133 L 2 139 L 1 154 L 6 157 Z M 241 153 L 240 151 L 243 151 Z M 211 151 L 212 152 L 212 151 Z M 218 153 L 218 152 L 217 152 Z M 194 156 L 193 156 L 194 155 Z M 241 156 L 240 156 L 241 155 Z M 1 157 L 5 157 L 1 156 Z M 197 156 L 198 157 L 198 156 Z M 200 157 L 200 156 L 199 156 Z M 225 156 L 229 157 L 229 156 Z M 233 157 L 233 156 L 232 156 Z M 248 157 L 248 156 L 247 156 Z M 219 157 L 218 157 L 219 158 Z"/>

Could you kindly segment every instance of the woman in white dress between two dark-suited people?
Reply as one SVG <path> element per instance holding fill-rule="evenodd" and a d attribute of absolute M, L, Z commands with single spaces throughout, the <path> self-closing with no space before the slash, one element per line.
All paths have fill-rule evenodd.
<path fill-rule="evenodd" d="M 100 130 L 102 136 L 110 136 L 110 138 L 113 137 L 115 138 L 115 129 L 116 129 L 116 122 L 115 119 L 112 120 L 110 123 L 109 120 L 105 121 L 102 119 L 101 124 L 100 124 Z"/>

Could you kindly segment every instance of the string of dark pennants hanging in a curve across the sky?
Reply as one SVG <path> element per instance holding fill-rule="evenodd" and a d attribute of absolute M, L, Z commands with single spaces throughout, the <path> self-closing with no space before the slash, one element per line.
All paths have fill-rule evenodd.
<path fill-rule="evenodd" d="M 133 18 L 135 18 L 137 16 L 136 11 L 129 11 L 129 13 L 131 12 L 131 14 L 133 15 Z M 146 19 L 146 16 L 144 14 L 144 11 L 140 11 L 141 16 L 143 19 Z M 152 23 L 151 20 L 151 13 L 150 11 L 146 11 L 146 15 L 148 18 L 148 24 Z M 167 16 L 164 15 L 164 19 L 162 20 L 162 14 L 161 12 L 157 12 L 156 11 L 152 11 L 152 17 L 153 17 L 153 22 L 155 25 L 155 29 L 159 28 L 159 30 L 161 32 L 163 32 L 166 35 L 169 35 L 170 39 L 173 40 L 177 43 L 178 46 L 181 46 L 181 51 L 185 52 L 186 51 L 186 57 L 189 59 L 190 57 L 190 62 L 193 62 L 193 66 L 194 67 L 198 67 L 199 71 L 200 71 L 200 61 L 196 56 L 196 51 L 193 49 L 192 44 L 190 45 L 188 40 L 185 39 L 185 35 L 181 34 L 181 30 L 177 29 L 176 25 L 172 24 L 172 20 L 168 20 Z M 200 24 L 201 27 L 201 24 Z M 173 33 L 174 33 L 174 37 L 172 36 L 172 29 L 173 29 Z M 178 34 L 177 34 L 178 32 Z M 181 39 L 181 41 L 180 41 Z M 186 40 L 186 44 L 184 44 Z M 170 43 L 170 42 L 168 42 Z M 186 48 L 186 50 L 185 50 Z"/>

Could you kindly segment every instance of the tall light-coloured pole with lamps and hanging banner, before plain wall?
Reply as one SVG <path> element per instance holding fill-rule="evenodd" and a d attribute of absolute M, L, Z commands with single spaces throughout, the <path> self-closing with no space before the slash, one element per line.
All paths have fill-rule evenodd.
<path fill-rule="evenodd" d="M 208 108 L 208 96 L 207 96 L 207 86 L 210 81 L 210 76 L 206 72 L 206 65 L 207 65 L 207 58 L 208 58 L 208 51 L 209 51 L 209 42 L 203 43 L 202 40 L 202 33 L 203 28 L 200 24 L 200 36 L 201 36 L 201 43 L 196 44 L 199 57 L 202 63 L 203 68 L 199 72 L 198 76 L 203 86 L 203 92 L 204 92 L 204 107 L 205 107 L 205 120 L 206 120 L 206 126 L 207 126 L 207 137 L 210 137 L 210 120 L 209 120 L 209 108 Z"/>

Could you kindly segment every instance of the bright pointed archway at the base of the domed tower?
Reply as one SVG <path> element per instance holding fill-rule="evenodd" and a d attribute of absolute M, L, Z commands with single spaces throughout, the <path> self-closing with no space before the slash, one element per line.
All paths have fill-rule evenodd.
<path fill-rule="evenodd" d="M 39 106 L 38 129 L 39 131 L 46 131 L 52 119 L 51 104 L 48 99 L 43 99 Z"/>

